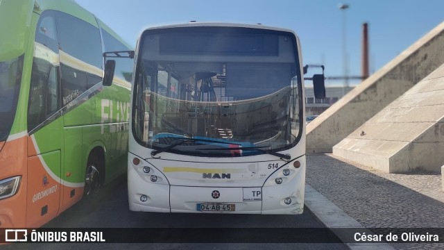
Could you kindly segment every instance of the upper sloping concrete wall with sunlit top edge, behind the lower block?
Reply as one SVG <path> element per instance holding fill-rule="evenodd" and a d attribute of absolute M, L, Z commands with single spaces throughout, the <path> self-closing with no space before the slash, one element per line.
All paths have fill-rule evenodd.
<path fill-rule="evenodd" d="M 334 145 L 443 63 L 444 22 L 309 123 L 307 152 L 332 152 Z"/>

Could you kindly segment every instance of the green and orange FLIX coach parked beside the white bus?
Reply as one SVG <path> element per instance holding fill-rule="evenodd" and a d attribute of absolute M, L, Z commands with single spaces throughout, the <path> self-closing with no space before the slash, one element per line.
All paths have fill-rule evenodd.
<path fill-rule="evenodd" d="M 40 227 L 126 172 L 128 44 L 70 0 L 0 1 L 0 228 Z"/>

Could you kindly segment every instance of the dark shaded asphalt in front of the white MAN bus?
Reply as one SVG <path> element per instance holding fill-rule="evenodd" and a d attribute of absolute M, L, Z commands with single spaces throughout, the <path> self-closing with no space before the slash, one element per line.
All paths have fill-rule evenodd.
<path fill-rule="evenodd" d="M 302 215 L 133 212 L 128 209 L 126 176 L 103 187 L 92 201 L 83 199 L 43 228 L 98 228 L 97 231 L 112 228 L 116 238 L 123 235 L 144 243 L 33 243 L 11 244 L 0 249 L 347 249 L 341 243 L 313 243 L 320 237 L 334 242 L 336 236 L 307 208 Z M 159 242 L 153 240 L 153 235 L 169 237 Z M 214 242 L 212 235 L 223 240 Z M 294 235 L 302 243 L 295 243 Z M 105 240 L 115 239 L 108 235 Z"/>

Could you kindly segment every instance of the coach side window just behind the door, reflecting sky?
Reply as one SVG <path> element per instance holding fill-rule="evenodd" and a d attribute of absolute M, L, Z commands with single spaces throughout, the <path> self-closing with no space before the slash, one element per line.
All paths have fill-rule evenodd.
<path fill-rule="evenodd" d="M 99 28 L 66 13 L 57 13 L 57 28 L 65 106 L 101 82 L 102 44 Z"/>

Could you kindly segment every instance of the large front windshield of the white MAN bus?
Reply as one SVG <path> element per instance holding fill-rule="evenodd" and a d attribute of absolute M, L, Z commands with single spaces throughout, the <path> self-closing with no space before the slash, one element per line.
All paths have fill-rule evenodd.
<path fill-rule="evenodd" d="M 136 70 L 133 135 L 145 147 L 250 156 L 289 149 L 300 138 L 302 77 L 293 33 L 148 29 Z"/>

